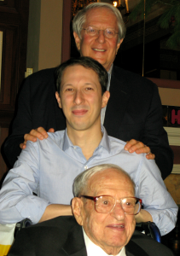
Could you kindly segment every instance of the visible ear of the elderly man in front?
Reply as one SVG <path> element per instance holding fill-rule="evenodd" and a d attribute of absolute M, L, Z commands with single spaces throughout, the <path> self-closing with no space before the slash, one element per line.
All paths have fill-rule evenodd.
<path fill-rule="evenodd" d="M 82 218 L 82 209 L 83 209 L 83 201 L 78 198 L 74 197 L 72 201 L 72 210 L 73 210 L 73 215 L 76 218 L 76 221 L 78 222 L 79 225 L 83 225 L 83 218 Z"/>

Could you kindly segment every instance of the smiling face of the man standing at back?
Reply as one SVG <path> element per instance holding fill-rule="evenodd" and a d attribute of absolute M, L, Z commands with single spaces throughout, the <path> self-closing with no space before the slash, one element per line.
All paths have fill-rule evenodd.
<path fill-rule="evenodd" d="M 99 33 L 91 36 L 84 30 L 87 27 L 96 28 Z M 78 38 L 76 32 L 73 35 L 80 55 L 89 56 L 99 61 L 108 71 L 123 39 L 118 43 L 118 34 L 115 34 L 113 38 L 107 38 L 103 32 L 107 28 L 113 29 L 114 32 L 119 32 L 117 18 L 113 12 L 107 8 L 90 9 L 86 15 L 81 38 Z"/>

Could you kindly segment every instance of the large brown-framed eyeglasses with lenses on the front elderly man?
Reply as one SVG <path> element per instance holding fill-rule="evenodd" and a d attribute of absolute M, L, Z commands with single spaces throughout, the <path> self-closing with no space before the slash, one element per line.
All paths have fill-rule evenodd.
<path fill-rule="evenodd" d="M 119 200 L 116 200 L 111 195 L 100 195 L 100 196 L 88 196 L 80 195 L 79 197 L 84 197 L 95 201 L 96 212 L 100 213 L 109 213 L 113 211 L 113 208 L 119 202 L 125 214 L 127 215 L 136 215 L 141 211 L 142 200 L 136 197 L 125 197 Z"/>

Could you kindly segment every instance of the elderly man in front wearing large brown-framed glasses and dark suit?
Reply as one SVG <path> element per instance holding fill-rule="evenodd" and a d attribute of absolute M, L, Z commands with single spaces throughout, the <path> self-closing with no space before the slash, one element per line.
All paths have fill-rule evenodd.
<path fill-rule="evenodd" d="M 142 201 L 119 166 L 94 166 L 75 178 L 73 217 L 23 229 L 9 256 L 172 256 L 171 250 L 135 231 Z M 133 234 L 134 233 L 134 234 Z"/>

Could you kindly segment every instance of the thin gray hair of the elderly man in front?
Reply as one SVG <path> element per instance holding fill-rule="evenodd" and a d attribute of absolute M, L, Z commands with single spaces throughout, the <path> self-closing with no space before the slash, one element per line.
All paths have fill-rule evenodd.
<path fill-rule="evenodd" d="M 112 168 L 119 172 L 125 173 L 125 175 L 130 178 L 132 186 L 135 189 L 135 183 L 133 182 L 133 180 L 131 179 L 130 175 L 127 172 L 125 172 L 119 166 L 116 166 L 113 164 L 103 164 L 103 165 L 91 167 L 90 169 L 84 172 L 81 172 L 80 174 L 78 174 L 77 177 L 75 177 L 73 181 L 73 195 L 75 197 L 78 197 L 79 195 L 84 193 L 84 190 L 87 189 L 87 185 L 90 177 L 96 174 L 96 172 L 101 172 L 101 171 L 105 171 L 107 169 L 112 169 Z"/>

